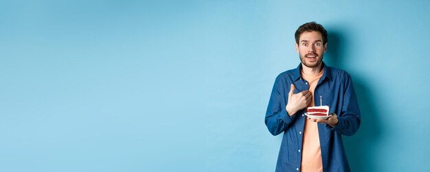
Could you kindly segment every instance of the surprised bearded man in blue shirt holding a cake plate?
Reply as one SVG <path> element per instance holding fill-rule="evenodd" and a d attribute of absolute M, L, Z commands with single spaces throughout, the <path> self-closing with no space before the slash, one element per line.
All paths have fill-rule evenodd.
<path fill-rule="evenodd" d="M 276 172 L 350 171 L 341 135 L 352 136 L 361 121 L 351 77 L 322 61 L 328 42 L 322 25 L 301 25 L 295 42 L 301 63 L 276 77 L 264 119 L 274 136 L 284 132 Z M 332 116 L 310 119 L 304 115 L 310 106 L 329 106 Z"/>

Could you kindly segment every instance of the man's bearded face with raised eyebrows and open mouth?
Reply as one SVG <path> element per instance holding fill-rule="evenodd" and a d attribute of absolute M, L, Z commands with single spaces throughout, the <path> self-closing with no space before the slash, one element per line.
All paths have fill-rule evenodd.
<path fill-rule="evenodd" d="M 319 32 L 303 32 L 295 50 L 299 53 L 300 61 L 309 68 L 321 65 L 327 44 L 323 45 L 322 35 Z"/>

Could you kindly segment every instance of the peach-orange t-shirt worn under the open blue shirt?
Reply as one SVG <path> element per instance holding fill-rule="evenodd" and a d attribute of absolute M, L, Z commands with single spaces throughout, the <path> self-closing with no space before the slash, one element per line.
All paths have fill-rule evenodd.
<path fill-rule="evenodd" d="M 309 84 L 309 91 L 312 93 L 310 106 L 315 106 L 314 91 L 319 78 L 324 73 L 324 69 L 317 75 L 306 75 L 302 72 L 302 77 Z M 306 117 L 306 116 L 305 116 Z M 306 118 L 303 131 L 302 164 L 301 171 L 317 172 L 323 171 L 321 159 L 321 145 L 319 145 L 318 125 Z"/>

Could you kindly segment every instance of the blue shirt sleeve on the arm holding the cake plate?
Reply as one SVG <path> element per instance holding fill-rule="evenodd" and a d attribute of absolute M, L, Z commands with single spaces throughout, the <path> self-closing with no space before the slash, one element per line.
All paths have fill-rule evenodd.
<path fill-rule="evenodd" d="M 339 122 L 333 127 L 333 130 L 346 136 L 352 136 L 359 130 L 361 114 L 352 79 L 348 73 L 345 75 L 346 82 L 344 83 L 345 92 L 343 94 L 342 110 L 341 114 L 337 114 Z"/>

